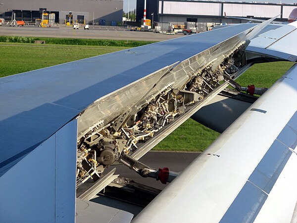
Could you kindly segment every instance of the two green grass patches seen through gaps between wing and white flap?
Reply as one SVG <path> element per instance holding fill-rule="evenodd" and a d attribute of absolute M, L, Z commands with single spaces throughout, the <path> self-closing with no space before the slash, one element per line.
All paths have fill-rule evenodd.
<path fill-rule="evenodd" d="M 243 87 L 253 84 L 269 88 L 294 62 L 270 62 L 254 64 L 236 81 Z M 204 151 L 220 134 L 188 119 L 162 140 L 153 150 Z"/>

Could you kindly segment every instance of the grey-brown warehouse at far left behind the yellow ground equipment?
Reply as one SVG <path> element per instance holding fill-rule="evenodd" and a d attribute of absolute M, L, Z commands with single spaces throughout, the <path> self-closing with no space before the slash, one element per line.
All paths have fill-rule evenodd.
<path fill-rule="evenodd" d="M 42 12 L 55 14 L 55 23 L 69 21 L 100 25 L 115 25 L 122 21 L 123 0 L 0 0 L 0 17 L 35 22 Z M 70 15 L 70 16 L 69 16 Z"/>

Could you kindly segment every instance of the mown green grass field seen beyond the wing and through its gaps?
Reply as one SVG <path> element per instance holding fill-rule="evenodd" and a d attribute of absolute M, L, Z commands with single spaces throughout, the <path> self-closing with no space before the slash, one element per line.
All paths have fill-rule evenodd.
<path fill-rule="evenodd" d="M 0 77 L 123 49 L 127 47 L 0 43 Z M 255 64 L 238 79 L 238 82 L 243 86 L 254 84 L 257 87 L 270 87 L 293 64 L 293 62 Z M 218 136 L 219 133 L 189 119 L 160 142 L 154 150 L 203 151 Z"/>

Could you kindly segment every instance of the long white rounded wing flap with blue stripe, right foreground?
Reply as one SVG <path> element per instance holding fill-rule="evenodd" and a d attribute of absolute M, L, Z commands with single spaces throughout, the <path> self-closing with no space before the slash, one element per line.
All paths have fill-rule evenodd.
<path fill-rule="evenodd" d="M 297 202 L 296 75 L 297 65 L 133 222 L 290 223 Z"/>

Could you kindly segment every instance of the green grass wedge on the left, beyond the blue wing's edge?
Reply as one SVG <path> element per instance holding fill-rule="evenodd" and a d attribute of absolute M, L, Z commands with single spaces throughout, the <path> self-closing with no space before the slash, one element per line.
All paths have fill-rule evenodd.
<path fill-rule="evenodd" d="M 128 48 L 35 44 L 6 46 L 0 44 L 0 77 L 124 49 Z"/>

